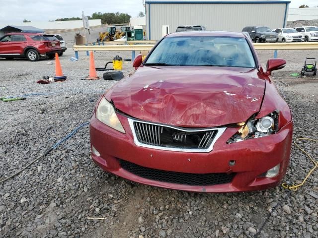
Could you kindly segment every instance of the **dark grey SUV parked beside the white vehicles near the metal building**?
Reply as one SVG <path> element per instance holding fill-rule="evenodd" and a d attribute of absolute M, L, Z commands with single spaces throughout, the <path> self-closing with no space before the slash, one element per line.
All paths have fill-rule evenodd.
<path fill-rule="evenodd" d="M 277 42 L 278 34 L 267 26 L 247 26 L 242 31 L 248 32 L 250 38 L 255 43 Z"/>

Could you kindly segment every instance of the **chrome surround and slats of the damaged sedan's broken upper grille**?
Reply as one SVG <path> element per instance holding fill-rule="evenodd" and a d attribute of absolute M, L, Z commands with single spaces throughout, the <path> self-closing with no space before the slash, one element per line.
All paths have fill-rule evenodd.
<path fill-rule="evenodd" d="M 182 128 L 177 126 L 171 126 L 166 124 L 159 124 L 149 121 L 142 121 L 142 120 L 136 120 L 128 118 L 128 122 L 130 125 L 130 129 L 133 132 L 134 136 L 134 142 L 137 146 L 151 148 L 151 149 L 158 149 L 158 150 L 167 150 L 167 151 L 180 151 L 180 152 L 198 152 L 198 153 L 208 153 L 213 150 L 213 146 L 215 142 L 220 138 L 220 136 L 223 134 L 223 132 L 226 130 L 226 127 L 214 127 L 214 128 L 202 128 L 202 129 L 191 129 L 191 128 Z M 139 122 L 134 125 L 134 122 Z M 135 128 L 138 127 L 137 129 Z M 199 143 L 199 148 L 176 148 L 176 147 L 167 147 L 167 146 L 159 146 L 159 145 L 151 145 L 147 144 L 146 142 L 140 142 L 138 140 L 138 137 L 141 138 L 143 141 L 153 141 L 154 143 L 161 144 L 160 143 L 160 131 L 162 133 L 163 127 L 170 127 L 173 129 L 177 129 L 180 131 L 186 131 L 186 132 L 202 132 L 202 131 L 210 131 L 205 134 L 205 136 L 201 139 Z M 154 130 L 154 132 L 153 132 Z M 143 132 L 143 133 L 140 133 Z M 151 131 L 152 133 L 149 133 Z M 217 131 L 217 133 L 213 133 L 214 131 Z M 138 136 L 137 136 L 138 133 Z M 181 137 L 176 135 L 176 138 L 181 140 L 186 140 L 186 136 Z M 211 142 L 212 140 L 212 142 Z M 206 147 L 209 143 L 210 146 Z M 202 148 L 202 149 L 200 149 Z"/>

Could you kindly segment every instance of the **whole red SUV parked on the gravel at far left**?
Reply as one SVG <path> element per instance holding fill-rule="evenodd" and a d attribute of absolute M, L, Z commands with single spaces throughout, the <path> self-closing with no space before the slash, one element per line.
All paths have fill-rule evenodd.
<path fill-rule="evenodd" d="M 55 53 L 62 53 L 60 41 L 52 40 L 54 35 L 40 33 L 8 33 L 0 38 L 0 58 L 27 58 L 37 61 L 53 59 Z"/>

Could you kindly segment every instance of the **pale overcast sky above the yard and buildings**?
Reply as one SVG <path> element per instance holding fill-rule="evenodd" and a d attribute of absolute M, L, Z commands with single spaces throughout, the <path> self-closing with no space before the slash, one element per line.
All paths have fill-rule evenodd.
<path fill-rule="evenodd" d="M 301 4 L 318 5 L 318 0 L 291 0 L 290 7 Z M 93 12 L 124 12 L 137 16 L 143 10 L 143 0 L 0 0 L 0 23 L 17 23 L 23 19 L 49 21 L 81 16 Z"/>

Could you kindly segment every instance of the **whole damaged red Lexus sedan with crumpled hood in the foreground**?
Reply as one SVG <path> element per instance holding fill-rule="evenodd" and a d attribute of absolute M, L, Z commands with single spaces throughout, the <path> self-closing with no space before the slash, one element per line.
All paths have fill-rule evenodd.
<path fill-rule="evenodd" d="M 97 102 L 91 157 L 136 182 L 196 192 L 276 186 L 293 121 L 243 33 L 179 32 L 162 38 L 137 70 Z"/>

